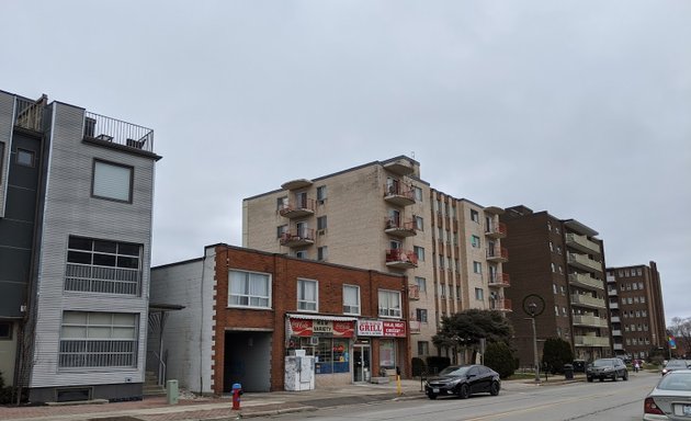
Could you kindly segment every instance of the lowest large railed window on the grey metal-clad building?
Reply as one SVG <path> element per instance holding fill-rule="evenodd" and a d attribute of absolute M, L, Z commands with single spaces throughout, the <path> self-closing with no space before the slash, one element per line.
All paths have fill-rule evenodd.
<path fill-rule="evenodd" d="M 65 311 L 58 366 L 136 367 L 138 315 Z"/>

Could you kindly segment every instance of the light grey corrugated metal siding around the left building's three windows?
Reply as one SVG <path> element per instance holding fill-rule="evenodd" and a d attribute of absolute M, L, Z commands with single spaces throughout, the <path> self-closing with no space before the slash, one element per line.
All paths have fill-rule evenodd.
<path fill-rule="evenodd" d="M 84 110 L 54 104 L 47 173 L 43 241 L 38 272 L 38 326 L 32 387 L 114 384 L 144 380 L 146 361 L 148 287 L 154 193 L 152 159 L 83 144 Z M 134 167 L 133 203 L 91 197 L 94 158 Z M 63 291 L 67 241 L 70 235 L 144 244 L 143 294 L 121 297 Z M 118 368 L 81 373 L 59 372 L 57 366 L 63 310 L 135 312 L 139 315 L 139 354 L 136 369 Z"/>

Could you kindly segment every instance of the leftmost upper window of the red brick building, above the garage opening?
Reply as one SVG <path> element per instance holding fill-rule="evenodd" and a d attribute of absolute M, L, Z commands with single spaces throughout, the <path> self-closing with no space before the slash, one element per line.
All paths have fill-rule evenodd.
<path fill-rule="evenodd" d="M 271 275 L 229 271 L 228 307 L 271 308 Z"/>

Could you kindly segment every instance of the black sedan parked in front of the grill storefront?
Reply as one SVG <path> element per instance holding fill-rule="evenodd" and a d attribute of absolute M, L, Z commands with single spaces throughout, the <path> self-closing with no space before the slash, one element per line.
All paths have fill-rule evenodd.
<path fill-rule="evenodd" d="M 499 395 L 501 380 L 499 373 L 479 365 L 450 365 L 430 378 L 424 385 L 424 392 L 430 399 L 442 395 L 456 395 L 465 399 L 474 394 L 487 392 Z"/>

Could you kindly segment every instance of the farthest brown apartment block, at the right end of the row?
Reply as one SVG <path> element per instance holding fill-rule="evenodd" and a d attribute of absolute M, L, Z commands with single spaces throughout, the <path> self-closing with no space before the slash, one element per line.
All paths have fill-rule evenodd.
<path fill-rule="evenodd" d="M 614 353 L 647 359 L 667 346 L 662 287 L 657 264 L 607 269 Z"/>

